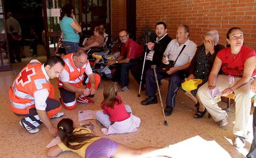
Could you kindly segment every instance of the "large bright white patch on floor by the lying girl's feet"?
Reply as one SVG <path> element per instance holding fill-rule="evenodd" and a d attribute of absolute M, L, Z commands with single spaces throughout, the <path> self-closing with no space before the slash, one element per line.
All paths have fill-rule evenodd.
<path fill-rule="evenodd" d="M 194 136 L 169 146 L 171 157 L 231 157 L 216 141 Z"/>

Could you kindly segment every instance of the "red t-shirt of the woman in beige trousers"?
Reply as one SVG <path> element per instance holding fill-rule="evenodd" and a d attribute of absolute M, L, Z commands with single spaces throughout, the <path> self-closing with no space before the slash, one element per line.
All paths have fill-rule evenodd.
<path fill-rule="evenodd" d="M 231 54 L 231 48 L 224 48 L 217 54 L 222 61 L 221 70 L 225 75 L 232 75 L 234 77 L 242 77 L 244 72 L 245 61 L 256 56 L 254 49 L 248 46 L 242 46 L 240 52 L 236 55 Z M 256 70 L 252 73 L 252 77 L 256 75 Z"/>

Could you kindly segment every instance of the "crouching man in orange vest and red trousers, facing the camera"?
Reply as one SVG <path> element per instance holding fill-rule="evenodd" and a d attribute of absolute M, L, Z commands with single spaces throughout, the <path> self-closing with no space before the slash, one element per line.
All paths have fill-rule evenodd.
<path fill-rule="evenodd" d="M 100 84 L 100 75 L 92 72 L 86 52 L 79 49 L 74 53 L 62 56 L 62 59 L 65 62 L 65 67 L 57 81 L 64 107 L 72 110 L 77 106 L 77 102 L 93 104 L 94 101 L 88 97 L 94 96 L 95 89 Z M 87 87 L 80 88 L 85 74 L 88 76 Z M 75 93 L 80 93 L 77 99 L 75 99 Z"/>

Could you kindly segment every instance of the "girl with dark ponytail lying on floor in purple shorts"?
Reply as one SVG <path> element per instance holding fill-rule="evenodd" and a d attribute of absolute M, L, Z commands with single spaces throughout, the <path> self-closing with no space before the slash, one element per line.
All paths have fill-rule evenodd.
<path fill-rule="evenodd" d="M 64 151 L 72 151 L 80 157 L 88 158 L 168 156 L 168 148 L 133 149 L 111 139 L 95 136 L 88 128 L 74 128 L 70 118 L 64 118 L 58 123 L 58 135 L 61 143 L 49 148 L 46 153 L 48 157 L 56 157 Z"/>

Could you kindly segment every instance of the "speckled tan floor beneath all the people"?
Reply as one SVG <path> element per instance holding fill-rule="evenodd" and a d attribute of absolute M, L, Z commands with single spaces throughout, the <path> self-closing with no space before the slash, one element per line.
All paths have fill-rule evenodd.
<path fill-rule="evenodd" d="M 13 69 L 16 70 L 16 72 L 19 72 L 30 59 L 32 58 L 27 57 L 24 62 L 13 64 Z M 37 59 L 43 61 L 45 60 L 45 57 L 37 57 Z M 46 157 L 45 146 L 53 138 L 49 135 L 45 125 L 40 126 L 39 133 L 31 135 L 20 127 L 20 118 L 15 116 L 9 109 L 8 89 L 16 76 L 14 72 L 15 71 L 0 72 L 0 157 Z M 52 80 L 51 83 L 56 87 L 56 81 Z M 162 83 L 161 94 L 163 101 L 165 101 L 168 82 L 163 81 Z M 179 91 L 176 99 L 177 105 L 173 115 L 166 117 L 168 121 L 168 126 L 166 127 L 163 125 L 163 115 L 161 113 L 160 103 L 150 106 L 140 106 L 140 101 L 145 98 L 145 94 L 142 92 L 142 96 L 138 98 L 138 89 L 139 86 L 135 83 L 133 78 L 130 77 L 130 90 L 121 92 L 119 95 L 126 104 L 129 104 L 132 107 L 134 115 L 141 118 L 142 123 L 139 131 L 129 134 L 104 136 L 100 132 L 101 126 L 93 120 L 92 123 L 94 123 L 96 127 L 95 135 L 111 138 L 114 141 L 134 148 L 142 148 L 144 146 L 164 147 L 168 144 L 178 143 L 198 135 L 207 141 L 215 140 L 216 143 L 226 150 L 231 157 L 244 157 L 243 154 L 247 154 L 249 151 L 249 142 L 251 141 L 252 136 L 250 136 L 249 142 L 247 141 L 244 149 L 238 150 L 234 148 L 232 144 L 232 140 L 234 139 L 232 133 L 234 107 L 231 107 L 231 112 L 229 112 L 228 128 L 222 130 L 218 127 L 218 124 L 213 122 L 212 119 L 209 119 L 207 115 L 201 119 L 193 118 L 192 116 L 195 113 L 195 108 L 192 101 Z M 58 96 L 59 91 L 56 88 L 56 98 L 58 98 Z M 65 113 L 63 118 L 72 118 L 75 125 L 79 125 L 78 110 L 100 109 L 100 102 L 103 100 L 102 84 L 97 90 L 93 100 L 95 101 L 95 104 L 93 105 L 79 104 L 74 110 L 62 109 Z M 225 105 L 224 103 L 222 104 Z M 51 121 L 56 125 L 59 120 L 61 120 L 61 118 L 56 118 Z M 252 133 L 250 133 L 250 135 L 252 135 Z M 197 144 L 195 144 L 195 146 L 196 145 Z M 204 152 L 203 146 L 198 146 L 198 150 Z M 198 156 L 199 155 L 200 152 L 198 152 Z M 71 152 L 65 152 L 58 157 L 79 156 Z M 211 156 L 208 156 L 207 153 L 205 153 L 205 156 L 200 157 Z"/>

